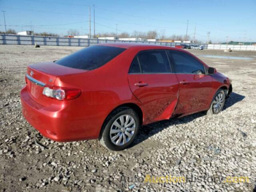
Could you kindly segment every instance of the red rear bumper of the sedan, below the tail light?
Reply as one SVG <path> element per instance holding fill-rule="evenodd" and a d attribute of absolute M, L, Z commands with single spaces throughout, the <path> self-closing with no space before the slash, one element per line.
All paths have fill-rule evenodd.
<path fill-rule="evenodd" d="M 46 138 L 58 142 L 98 138 L 101 122 L 88 116 L 80 102 L 72 100 L 68 104 L 42 106 L 30 97 L 27 86 L 22 88 L 20 99 L 23 116 Z"/>

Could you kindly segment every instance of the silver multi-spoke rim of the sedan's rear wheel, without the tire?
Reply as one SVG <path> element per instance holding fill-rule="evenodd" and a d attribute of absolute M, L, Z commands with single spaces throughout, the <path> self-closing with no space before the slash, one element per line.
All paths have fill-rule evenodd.
<path fill-rule="evenodd" d="M 121 115 L 110 128 L 110 140 L 113 144 L 122 146 L 134 136 L 136 122 L 130 115 Z"/>

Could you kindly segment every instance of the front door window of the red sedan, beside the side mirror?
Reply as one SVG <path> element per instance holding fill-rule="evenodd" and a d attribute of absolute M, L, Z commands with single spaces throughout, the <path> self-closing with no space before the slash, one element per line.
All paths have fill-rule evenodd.
<path fill-rule="evenodd" d="M 175 62 L 176 73 L 205 74 L 204 65 L 192 56 L 176 51 L 170 51 Z"/>

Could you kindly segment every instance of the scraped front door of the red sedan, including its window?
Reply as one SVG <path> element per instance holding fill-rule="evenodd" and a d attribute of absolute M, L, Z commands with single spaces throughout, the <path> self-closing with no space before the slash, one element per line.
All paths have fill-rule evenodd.
<path fill-rule="evenodd" d="M 180 91 L 175 114 L 207 110 L 212 95 L 212 77 L 205 72 L 204 65 L 193 56 L 170 51 L 174 60 Z"/>

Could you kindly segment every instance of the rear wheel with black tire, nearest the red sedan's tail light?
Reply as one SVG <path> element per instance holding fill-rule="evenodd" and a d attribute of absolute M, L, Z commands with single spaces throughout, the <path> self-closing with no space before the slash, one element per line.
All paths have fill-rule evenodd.
<path fill-rule="evenodd" d="M 105 120 L 100 134 L 100 143 L 113 151 L 132 144 L 140 127 L 138 114 L 131 108 L 115 109 Z"/>

